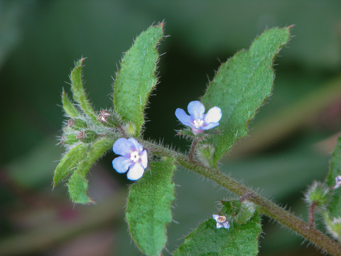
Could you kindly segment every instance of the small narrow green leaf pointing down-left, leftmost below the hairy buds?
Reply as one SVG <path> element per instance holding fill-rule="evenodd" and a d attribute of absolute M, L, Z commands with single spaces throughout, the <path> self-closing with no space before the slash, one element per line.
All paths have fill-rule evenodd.
<path fill-rule="evenodd" d="M 85 144 L 78 144 L 77 146 L 70 149 L 70 151 L 63 156 L 63 159 L 60 160 L 60 163 L 55 168 L 55 174 L 53 176 L 53 187 L 57 185 L 57 183 L 69 175 L 77 164 L 84 159 L 85 154 L 87 153 L 87 146 Z"/>

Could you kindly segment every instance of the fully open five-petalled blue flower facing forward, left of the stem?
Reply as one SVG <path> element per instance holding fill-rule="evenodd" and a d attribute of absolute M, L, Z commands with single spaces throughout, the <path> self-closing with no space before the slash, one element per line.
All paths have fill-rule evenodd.
<path fill-rule="evenodd" d="M 112 161 L 112 166 L 119 174 L 124 174 L 129 169 L 126 177 L 131 181 L 136 181 L 144 175 L 144 169 L 148 166 L 148 155 L 136 139 L 117 139 L 112 151 L 121 155 Z"/>

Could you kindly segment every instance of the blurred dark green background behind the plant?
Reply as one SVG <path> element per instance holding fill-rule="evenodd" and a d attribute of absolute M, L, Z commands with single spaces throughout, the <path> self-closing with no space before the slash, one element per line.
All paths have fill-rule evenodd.
<path fill-rule="evenodd" d="M 264 29 L 294 24 L 276 59 L 274 95 L 221 169 L 306 219 L 303 191 L 323 181 L 341 128 L 340 1 L 0 1 L 0 255 L 141 255 L 127 233 L 129 181 L 109 153 L 89 176 L 96 205 L 74 206 L 51 181 L 74 61 L 87 57 L 85 87 L 97 110 L 112 106 L 122 53 L 166 21 L 160 83 L 144 137 L 186 150 L 174 111 L 200 97 L 220 63 Z M 165 255 L 233 195 L 190 171 L 174 178 L 174 222 Z M 320 255 L 263 218 L 260 255 Z M 323 223 L 318 223 L 323 229 Z"/>

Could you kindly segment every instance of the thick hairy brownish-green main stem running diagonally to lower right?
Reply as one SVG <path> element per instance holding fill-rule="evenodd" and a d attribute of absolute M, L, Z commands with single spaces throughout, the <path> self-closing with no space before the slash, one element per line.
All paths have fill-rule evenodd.
<path fill-rule="evenodd" d="M 278 221 L 278 223 L 281 223 L 282 225 L 285 225 L 286 227 L 295 231 L 303 238 L 320 247 L 323 252 L 328 252 L 330 255 L 341 256 L 341 245 L 335 242 L 335 240 L 332 240 L 332 238 L 329 238 L 327 235 L 320 232 L 320 230 L 309 228 L 308 223 L 305 223 L 292 213 L 284 210 L 281 208 L 281 206 L 277 206 L 272 201 L 263 198 L 255 191 L 251 191 L 251 189 L 247 188 L 242 183 L 238 183 L 233 178 L 222 173 L 222 171 L 203 166 L 197 161 L 190 161 L 188 156 L 185 156 L 184 154 L 180 154 L 171 149 L 166 149 L 163 146 L 158 146 L 151 142 L 145 141 L 144 145 L 151 153 L 159 156 L 173 157 L 180 166 L 195 171 L 197 174 L 200 174 L 205 178 L 209 178 L 211 181 L 215 181 L 215 183 L 227 188 L 229 191 L 232 191 L 238 196 L 249 194 L 249 200 L 254 201 L 254 203 L 259 206 L 259 213 L 267 215 L 270 218 Z"/>

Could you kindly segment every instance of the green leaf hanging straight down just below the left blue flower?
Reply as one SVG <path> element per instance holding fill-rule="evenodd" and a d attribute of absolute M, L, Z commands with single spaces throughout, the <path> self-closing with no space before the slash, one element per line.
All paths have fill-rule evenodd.
<path fill-rule="evenodd" d="M 144 254 L 161 255 L 167 242 L 166 225 L 171 223 L 175 166 L 173 159 L 152 162 L 151 170 L 131 186 L 126 221 L 131 237 Z"/>

